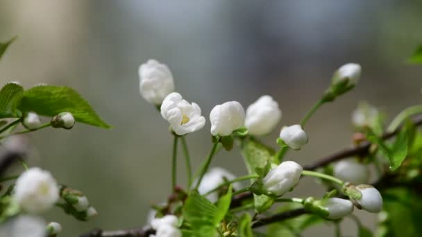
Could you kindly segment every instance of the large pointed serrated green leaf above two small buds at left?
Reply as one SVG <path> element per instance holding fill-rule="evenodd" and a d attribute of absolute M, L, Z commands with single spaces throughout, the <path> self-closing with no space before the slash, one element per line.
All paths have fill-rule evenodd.
<path fill-rule="evenodd" d="M 74 89 L 53 85 L 39 85 L 24 92 L 19 109 L 43 116 L 71 112 L 76 121 L 100 128 L 110 128 Z"/>

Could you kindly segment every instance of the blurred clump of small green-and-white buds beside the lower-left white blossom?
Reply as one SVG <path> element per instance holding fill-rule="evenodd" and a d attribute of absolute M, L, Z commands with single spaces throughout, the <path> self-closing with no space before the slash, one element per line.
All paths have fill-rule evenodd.
<path fill-rule="evenodd" d="M 97 214 L 81 191 L 62 187 L 60 188 L 60 197 L 65 200 L 65 203 L 59 204 L 59 206 L 78 220 L 90 220 Z"/>

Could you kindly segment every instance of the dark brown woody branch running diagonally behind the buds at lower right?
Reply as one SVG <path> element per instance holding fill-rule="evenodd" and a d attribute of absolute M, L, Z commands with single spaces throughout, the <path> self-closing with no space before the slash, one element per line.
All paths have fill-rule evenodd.
<path fill-rule="evenodd" d="M 414 119 L 413 123 L 415 126 L 422 125 L 422 116 L 419 116 L 416 119 Z M 382 135 L 382 139 L 385 140 L 385 139 L 394 137 L 396 134 L 398 134 L 400 129 L 401 127 L 395 130 L 394 132 L 389 132 Z M 355 148 L 346 148 L 344 150 L 340 150 L 338 152 L 333 153 L 332 155 L 328 155 L 327 157 L 323 157 L 319 159 L 319 161 L 317 161 L 316 163 L 312 165 L 303 166 L 303 169 L 316 170 L 316 168 L 321 168 L 334 161 L 339 161 L 341 159 L 346 159 L 348 157 L 353 157 L 356 155 L 364 156 L 368 154 L 370 147 L 371 147 L 371 143 L 369 143 L 369 141 L 365 141 L 360 146 L 357 146 Z M 390 178 L 391 178 L 390 176 L 386 176 L 380 179 L 380 181 L 378 181 L 377 183 L 373 184 L 373 186 L 380 189 L 397 186 L 389 182 Z M 417 184 L 417 185 L 421 187 L 421 184 Z M 240 207 L 242 206 L 242 202 L 244 200 L 248 200 L 250 198 L 253 198 L 253 193 L 251 192 L 246 192 L 246 193 L 241 193 L 239 195 L 236 195 L 232 199 L 230 208 Z M 295 218 L 305 213 L 308 213 L 308 212 L 303 208 L 284 211 L 282 213 L 277 213 L 273 216 L 260 218 L 255 223 L 253 223 L 252 227 L 253 228 L 262 227 L 264 225 L 268 225 L 273 222 L 280 222 L 282 220 L 287 220 L 289 218 Z M 94 231 L 91 231 L 88 234 L 81 235 L 81 237 L 147 237 L 150 234 L 154 234 L 154 230 L 151 229 L 151 227 L 144 227 L 144 228 L 139 228 L 139 229 L 127 229 L 127 230 L 120 230 L 120 231 L 101 231 L 99 229 L 96 229 Z"/>

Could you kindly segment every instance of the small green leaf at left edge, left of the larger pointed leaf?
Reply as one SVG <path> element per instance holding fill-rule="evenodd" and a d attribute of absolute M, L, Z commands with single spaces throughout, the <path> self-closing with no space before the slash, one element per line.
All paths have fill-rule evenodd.
<path fill-rule="evenodd" d="M 16 118 L 22 116 L 17 109 L 22 96 L 24 88 L 17 84 L 8 82 L 0 90 L 0 118 Z"/>

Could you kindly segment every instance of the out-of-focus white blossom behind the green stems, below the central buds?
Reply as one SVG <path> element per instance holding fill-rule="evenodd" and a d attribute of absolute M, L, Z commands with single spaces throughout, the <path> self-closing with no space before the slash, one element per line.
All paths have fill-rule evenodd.
<path fill-rule="evenodd" d="M 205 173 L 205 175 L 203 175 L 201 184 L 199 184 L 199 187 L 198 187 L 198 192 L 201 195 L 204 195 L 205 193 L 212 191 L 214 188 L 217 188 L 218 186 L 226 182 L 226 180 L 232 180 L 235 178 L 236 178 L 235 175 L 233 175 L 232 173 L 228 172 L 227 170 L 221 167 L 210 168 L 208 172 Z M 236 190 L 239 190 L 242 188 L 239 182 L 234 183 L 233 187 Z M 208 198 L 208 200 L 210 200 L 211 202 L 216 202 L 218 200 L 218 195 L 217 193 L 214 192 L 207 195 L 206 198 Z"/>

